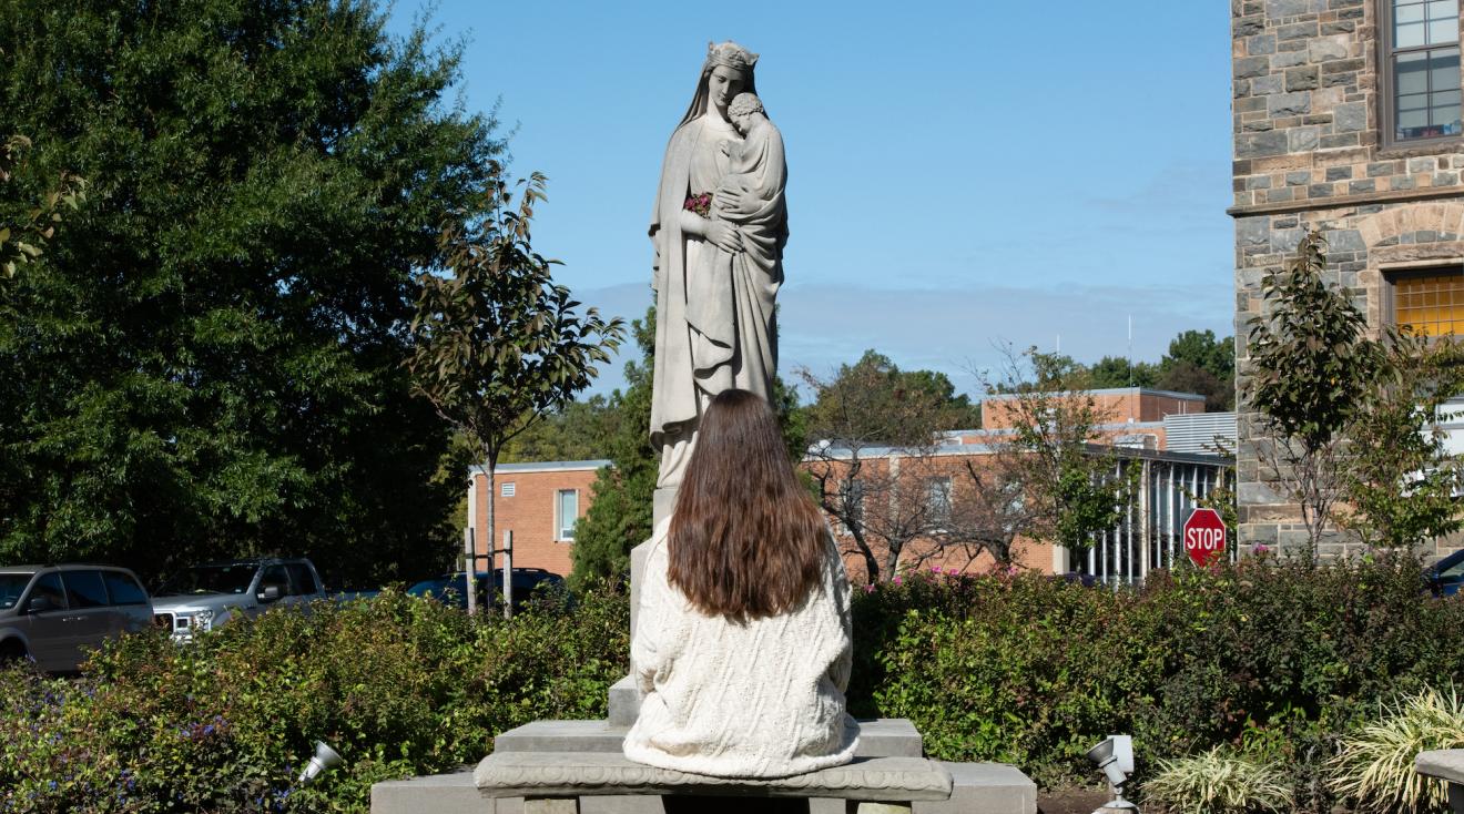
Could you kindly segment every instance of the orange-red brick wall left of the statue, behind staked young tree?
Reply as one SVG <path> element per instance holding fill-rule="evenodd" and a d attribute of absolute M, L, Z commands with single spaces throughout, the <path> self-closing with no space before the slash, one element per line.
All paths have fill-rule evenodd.
<path fill-rule="evenodd" d="M 583 468 L 543 468 L 543 470 L 504 470 L 498 473 L 495 492 L 496 504 L 495 526 L 498 545 L 502 548 L 504 530 L 514 531 L 514 568 L 543 568 L 564 577 L 569 575 L 574 562 L 569 558 L 572 546 L 568 540 L 555 539 L 555 504 L 561 489 L 575 489 L 580 498 L 578 517 L 590 508 L 590 485 L 594 483 L 597 470 Z M 477 483 L 477 501 L 473 507 L 474 537 L 479 552 L 488 550 L 488 477 L 474 474 Z M 504 496 L 504 485 L 514 485 L 514 496 Z M 485 568 L 479 564 L 479 570 Z M 502 567 L 498 559 L 495 565 Z"/>

